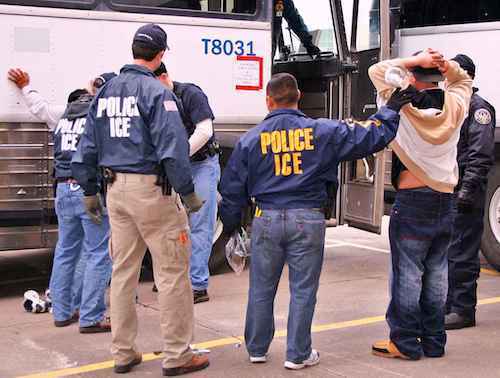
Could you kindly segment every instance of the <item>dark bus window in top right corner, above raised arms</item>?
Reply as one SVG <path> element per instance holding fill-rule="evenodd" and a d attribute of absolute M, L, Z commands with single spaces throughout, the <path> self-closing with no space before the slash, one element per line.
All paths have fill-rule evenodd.
<path fill-rule="evenodd" d="M 401 27 L 500 21 L 498 0 L 402 0 Z"/>

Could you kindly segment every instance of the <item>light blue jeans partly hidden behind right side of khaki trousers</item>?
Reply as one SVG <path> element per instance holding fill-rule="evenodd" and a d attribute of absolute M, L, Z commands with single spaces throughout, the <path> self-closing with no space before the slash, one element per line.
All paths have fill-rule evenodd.
<path fill-rule="evenodd" d="M 217 220 L 217 185 L 220 180 L 219 155 L 191 164 L 194 190 L 205 201 L 200 211 L 189 216 L 191 229 L 191 285 L 194 290 L 208 288 L 208 260 L 212 253 Z"/>

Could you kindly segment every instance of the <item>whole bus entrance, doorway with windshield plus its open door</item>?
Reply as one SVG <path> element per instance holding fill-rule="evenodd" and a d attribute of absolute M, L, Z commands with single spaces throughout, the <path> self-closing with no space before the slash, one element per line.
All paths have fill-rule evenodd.
<path fill-rule="evenodd" d="M 285 48 L 277 48 L 273 73 L 288 72 L 297 78 L 303 94 L 300 108 L 310 117 L 366 119 L 375 113 L 376 92 L 367 69 L 381 53 L 378 0 L 294 3 L 322 53 L 316 59 L 308 56 L 283 21 Z M 339 224 L 380 233 L 384 157 L 379 155 L 342 165 L 335 214 Z"/>

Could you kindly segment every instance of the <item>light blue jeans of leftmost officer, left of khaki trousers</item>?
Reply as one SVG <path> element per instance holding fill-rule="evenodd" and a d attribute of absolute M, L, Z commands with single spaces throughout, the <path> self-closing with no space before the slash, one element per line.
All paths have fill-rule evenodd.
<path fill-rule="evenodd" d="M 78 289 L 74 278 L 79 261 L 83 261 L 80 326 L 92 326 L 104 318 L 105 292 L 111 277 L 108 217 L 101 225 L 94 224 L 85 213 L 82 189 L 65 183 L 57 185 L 56 214 L 59 240 L 50 278 L 54 319 L 67 320 L 76 310 L 72 297 Z"/>

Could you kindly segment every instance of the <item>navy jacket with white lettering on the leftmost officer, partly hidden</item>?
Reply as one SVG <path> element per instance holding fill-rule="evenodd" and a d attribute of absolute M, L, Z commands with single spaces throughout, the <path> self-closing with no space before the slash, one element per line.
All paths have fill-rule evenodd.
<path fill-rule="evenodd" d="M 54 130 L 54 170 L 56 179 L 70 178 L 71 159 L 80 135 L 85 130 L 87 113 L 93 97 L 80 96 L 68 104 Z"/>

